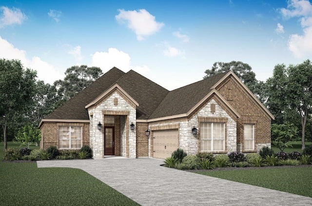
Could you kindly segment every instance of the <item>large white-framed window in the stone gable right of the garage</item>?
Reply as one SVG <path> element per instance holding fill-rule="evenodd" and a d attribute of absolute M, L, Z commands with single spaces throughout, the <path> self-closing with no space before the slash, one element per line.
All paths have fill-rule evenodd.
<path fill-rule="evenodd" d="M 200 150 L 207 151 L 224 151 L 225 139 L 224 123 L 201 123 L 200 124 Z"/>

